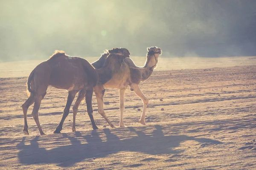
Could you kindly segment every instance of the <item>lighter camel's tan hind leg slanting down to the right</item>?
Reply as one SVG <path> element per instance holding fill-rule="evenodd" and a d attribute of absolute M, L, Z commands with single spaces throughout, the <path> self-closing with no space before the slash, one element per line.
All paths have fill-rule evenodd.
<path fill-rule="evenodd" d="M 104 112 L 104 108 L 103 108 L 103 95 L 104 95 L 104 88 L 102 85 L 97 85 L 94 87 L 94 93 L 96 95 L 96 99 L 97 99 L 97 103 L 98 103 L 98 112 L 99 114 L 108 122 L 108 124 L 111 127 L 114 127 L 112 125 L 112 123 L 108 120 L 105 112 Z"/>

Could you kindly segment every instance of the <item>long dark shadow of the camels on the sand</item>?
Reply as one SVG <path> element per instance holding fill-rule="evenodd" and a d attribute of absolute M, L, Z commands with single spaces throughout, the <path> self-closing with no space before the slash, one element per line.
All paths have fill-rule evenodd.
<path fill-rule="evenodd" d="M 135 130 L 133 127 L 128 127 L 128 133 L 136 133 L 137 136 L 122 140 L 111 133 L 109 129 L 103 129 L 107 138 L 106 141 L 102 141 L 97 130 L 92 130 L 86 136 L 82 136 L 80 132 L 76 132 L 72 136 L 61 133 L 56 137 L 54 136 L 53 139 L 47 140 L 52 140 L 54 145 L 54 142 L 59 142 L 58 139 L 68 139 L 71 144 L 57 146 L 52 149 L 47 149 L 47 146 L 39 147 L 40 136 L 35 136 L 34 139 L 30 140 L 29 145 L 25 145 L 26 137 L 23 137 L 22 141 L 17 144 L 17 149 L 20 150 L 18 158 L 21 164 L 57 164 L 61 167 L 70 167 L 84 161 L 84 159 L 103 158 L 121 151 L 141 152 L 150 155 L 177 154 L 182 151 L 173 150 L 173 148 L 178 147 L 180 142 L 188 140 L 200 143 L 222 143 L 217 140 L 194 138 L 186 135 L 165 136 L 160 125 L 155 125 L 154 127 L 155 130 L 150 135 L 145 134 L 143 130 Z M 120 132 L 122 133 L 122 131 Z"/>

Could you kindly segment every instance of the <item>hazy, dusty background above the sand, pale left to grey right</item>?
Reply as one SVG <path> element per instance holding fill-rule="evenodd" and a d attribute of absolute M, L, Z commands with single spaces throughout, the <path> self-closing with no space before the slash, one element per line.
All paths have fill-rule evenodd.
<path fill-rule="evenodd" d="M 256 55 L 256 0 L 0 0 L 0 61 L 154 45 L 163 57 Z"/>

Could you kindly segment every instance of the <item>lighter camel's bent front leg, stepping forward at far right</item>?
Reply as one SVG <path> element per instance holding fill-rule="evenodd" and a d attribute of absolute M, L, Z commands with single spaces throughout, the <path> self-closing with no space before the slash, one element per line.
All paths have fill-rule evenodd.
<path fill-rule="evenodd" d="M 137 94 L 137 96 L 140 97 L 140 99 L 143 101 L 143 111 L 142 111 L 142 115 L 140 116 L 140 120 L 139 122 L 142 125 L 146 125 L 145 124 L 145 113 L 146 113 L 146 109 L 148 106 L 148 98 L 143 94 L 143 92 L 140 90 L 139 85 L 137 84 L 132 84 L 131 88 L 134 89 L 135 94 Z"/>

